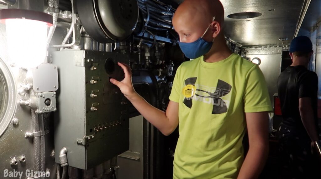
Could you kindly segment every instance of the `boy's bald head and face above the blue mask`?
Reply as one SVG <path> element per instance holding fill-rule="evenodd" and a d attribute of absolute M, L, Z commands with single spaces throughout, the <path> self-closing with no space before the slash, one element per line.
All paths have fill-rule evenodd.
<path fill-rule="evenodd" d="M 189 37 L 188 35 L 193 34 L 197 39 L 213 22 L 213 17 L 221 27 L 224 22 L 224 8 L 219 0 L 185 0 L 173 16 L 173 26 L 181 40 L 184 35 Z"/>

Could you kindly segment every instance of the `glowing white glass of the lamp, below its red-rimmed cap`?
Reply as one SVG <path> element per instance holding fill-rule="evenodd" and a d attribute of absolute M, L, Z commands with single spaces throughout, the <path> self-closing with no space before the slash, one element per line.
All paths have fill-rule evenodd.
<path fill-rule="evenodd" d="M 44 62 L 47 54 L 46 22 L 30 19 L 5 19 L 8 55 L 23 68 L 34 68 Z"/>

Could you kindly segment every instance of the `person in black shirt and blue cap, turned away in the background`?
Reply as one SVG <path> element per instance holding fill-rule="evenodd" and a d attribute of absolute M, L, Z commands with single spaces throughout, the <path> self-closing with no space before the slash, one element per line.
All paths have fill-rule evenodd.
<path fill-rule="evenodd" d="M 283 117 L 279 128 L 280 153 L 288 175 L 282 178 L 315 178 L 319 173 L 318 156 L 312 155 L 319 140 L 318 77 L 307 69 L 312 54 L 312 43 L 307 36 L 294 38 L 290 46 L 293 63 L 278 78 Z"/>

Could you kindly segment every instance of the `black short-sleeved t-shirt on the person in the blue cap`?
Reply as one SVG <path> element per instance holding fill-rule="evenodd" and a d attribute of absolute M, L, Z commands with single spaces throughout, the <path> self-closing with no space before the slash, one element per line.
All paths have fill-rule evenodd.
<path fill-rule="evenodd" d="M 305 66 L 287 67 L 278 79 L 282 123 L 289 128 L 305 131 L 299 112 L 299 98 L 310 97 L 317 125 L 317 91 L 318 77 L 315 72 L 309 71 Z"/>

